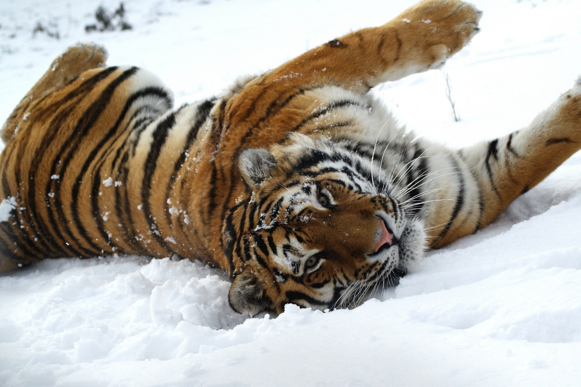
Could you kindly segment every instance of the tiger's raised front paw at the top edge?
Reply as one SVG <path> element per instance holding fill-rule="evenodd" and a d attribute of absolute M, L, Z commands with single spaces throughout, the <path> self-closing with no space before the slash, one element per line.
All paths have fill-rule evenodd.
<path fill-rule="evenodd" d="M 420 59 L 435 69 L 478 33 L 482 11 L 460 0 L 425 0 L 405 10 L 394 22 L 425 54 Z M 399 20 L 398 20 L 399 19 Z"/>

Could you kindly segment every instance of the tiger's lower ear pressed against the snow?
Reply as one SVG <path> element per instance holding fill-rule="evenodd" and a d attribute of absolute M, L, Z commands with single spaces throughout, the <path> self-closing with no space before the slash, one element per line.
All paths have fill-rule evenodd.
<path fill-rule="evenodd" d="M 272 300 L 266 295 L 260 279 L 250 266 L 236 275 L 228 292 L 228 302 L 232 309 L 241 314 L 248 314 L 250 317 L 256 316 L 265 309 L 274 309 Z"/>

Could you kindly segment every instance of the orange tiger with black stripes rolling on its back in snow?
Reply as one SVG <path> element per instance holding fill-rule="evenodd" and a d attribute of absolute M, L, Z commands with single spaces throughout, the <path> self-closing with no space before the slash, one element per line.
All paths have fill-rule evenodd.
<path fill-rule="evenodd" d="M 0 270 L 56 257 L 203 260 L 238 313 L 353 307 L 490 224 L 580 148 L 581 78 L 532 123 L 461 149 L 370 90 L 440 69 L 482 12 L 425 0 L 204 101 L 71 46 L 2 127 Z"/>

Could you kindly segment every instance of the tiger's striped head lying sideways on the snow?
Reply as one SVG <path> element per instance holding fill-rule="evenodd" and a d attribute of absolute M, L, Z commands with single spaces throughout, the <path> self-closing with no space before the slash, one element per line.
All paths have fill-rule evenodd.
<path fill-rule="evenodd" d="M 239 156 L 252 195 L 223 227 L 236 266 L 229 303 L 239 313 L 355 306 L 424 252 L 422 222 L 394 197 L 385 172 L 324 138 L 299 136 Z"/>

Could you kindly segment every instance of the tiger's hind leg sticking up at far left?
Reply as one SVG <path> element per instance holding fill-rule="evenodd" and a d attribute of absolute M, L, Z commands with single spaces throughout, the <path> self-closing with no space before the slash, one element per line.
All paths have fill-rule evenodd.
<path fill-rule="evenodd" d="M 14 137 L 20 120 L 24 119 L 38 101 L 69 84 L 83 71 L 104 66 L 106 59 L 107 52 L 96 44 L 80 43 L 69 47 L 52 62 L 51 67 L 10 114 L 0 132 L 2 141 L 7 144 Z"/>

